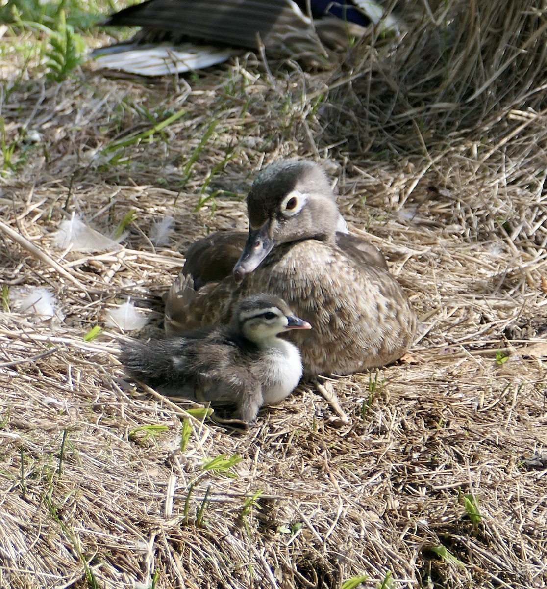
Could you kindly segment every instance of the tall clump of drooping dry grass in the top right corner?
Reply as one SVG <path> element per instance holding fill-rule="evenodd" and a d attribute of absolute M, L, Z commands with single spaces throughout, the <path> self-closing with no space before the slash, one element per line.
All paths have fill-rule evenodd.
<path fill-rule="evenodd" d="M 543 111 L 547 19 L 535 3 L 423 8 L 397 44 L 363 39 L 355 48 L 352 70 L 333 80 L 336 127 L 362 147 L 408 154 L 459 147 L 469 131 L 497 137 L 519 126 L 512 111 Z"/>

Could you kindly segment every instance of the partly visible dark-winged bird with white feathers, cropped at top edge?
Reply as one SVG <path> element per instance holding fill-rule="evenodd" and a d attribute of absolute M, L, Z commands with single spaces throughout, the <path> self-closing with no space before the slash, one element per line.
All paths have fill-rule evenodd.
<path fill-rule="evenodd" d="M 319 56 L 325 60 L 329 50 L 343 51 L 380 21 L 399 29 L 373 0 L 148 0 L 104 23 L 142 31 L 94 55 L 101 67 L 142 75 L 198 70 L 261 44 L 294 59 L 313 55 L 318 64 Z"/>

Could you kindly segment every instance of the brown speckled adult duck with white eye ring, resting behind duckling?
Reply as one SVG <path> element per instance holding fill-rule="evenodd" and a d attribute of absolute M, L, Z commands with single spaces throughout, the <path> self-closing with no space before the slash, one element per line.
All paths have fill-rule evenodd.
<path fill-rule="evenodd" d="M 227 323 L 242 297 L 264 291 L 286 300 L 313 327 L 306 337 L 288 338 L 301 350 L 306 376 L 347 375 L 406 352 L 416 330 L 408 297 L 378 249 L 336 231 L 339 211 L 322 168 L 276 161 L 256 178 L 247 207 L 246 239 L 216 233 L 189 249 L 165 297 L 168 335 Z"/>

